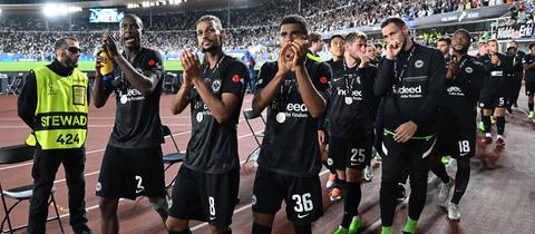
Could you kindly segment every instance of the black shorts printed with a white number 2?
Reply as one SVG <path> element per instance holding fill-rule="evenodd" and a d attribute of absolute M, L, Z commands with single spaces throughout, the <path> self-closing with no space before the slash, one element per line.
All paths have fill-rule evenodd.
<path fill-rule="evenodd" d="M 96 191 L 97 196 L 113 198 L 165 197 L 162 148 L 117 148 L 108 145 Z"/>

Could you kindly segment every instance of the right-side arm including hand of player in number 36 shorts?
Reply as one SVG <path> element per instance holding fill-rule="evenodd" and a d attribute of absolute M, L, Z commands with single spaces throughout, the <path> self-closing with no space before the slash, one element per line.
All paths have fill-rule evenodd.
<path fill-rule="evenodd" d="M 308 52 L 308 45 L 303 41 L 295 40 L 292 42 L 292 50 L 294 51 L 295 56 L 293 58 L 293 68 L 295 70 L 295 78 L 299 84 L 299 90 L 301 90 L 301 98 L 303 99 L 304 105 L 309 109 L 310 115 L 313 118 L 319 118 L 323 115 L 325 110 L 325 90 L 321 92 L 312 84 L 310 79 L 310 75 L 304 67 L 304 58 Z M 324 65 L 324 64 L 322 64 Z M 328 67 L 330 70 L 330 67 Z M 321 71 L 320 71 L 321 72 Z M 325 79 L 330 79 L 330 77 L 324 77 Z M 321 76 L 320 76 L 321 77 Z M 322 77 L 323 78 L 323 77 Z M 325 80 L 327 84 L 328 80 Z"/>

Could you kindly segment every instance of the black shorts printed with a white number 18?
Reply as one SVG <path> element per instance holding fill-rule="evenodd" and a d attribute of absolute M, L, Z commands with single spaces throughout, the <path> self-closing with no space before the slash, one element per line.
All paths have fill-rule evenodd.
<path fill-rule="evenodd" d="M 458 126 L 447 124 L 447 121 L 440 124 L 432 155 L 471 158 L 475 154 L 475 128 L 459 128 Z"/>

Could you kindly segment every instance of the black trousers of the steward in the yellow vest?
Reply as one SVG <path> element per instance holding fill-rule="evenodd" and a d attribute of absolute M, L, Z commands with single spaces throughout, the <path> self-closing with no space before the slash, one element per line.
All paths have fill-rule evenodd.
<path fill-rule="evenodd" d="M 75 233 L 87 230 L 86 182 L 84 178 L 85 148 L 43 150 L 38 146 L 36 147 L 33 168 L 31 169 L 33 196 L 30 201 L 29 234 L 43 234 L 46 232 L 50 189 L 54 186 L 56 173 L 60 164 L 64 164 L 69 188 L 70 225 Z"/>

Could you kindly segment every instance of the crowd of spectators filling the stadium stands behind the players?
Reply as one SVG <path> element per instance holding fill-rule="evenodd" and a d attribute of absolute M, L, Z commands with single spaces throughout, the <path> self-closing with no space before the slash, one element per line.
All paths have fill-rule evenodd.
<path fill-rule="evenodd" d="M 504 0 L 508 3 L 508 0 Z M 156 48 L 164 55 L 177 52 L 183 48 L 196 48 L 195 20 L 203 14 L 214 14 L 222 19 L 230 29 L 226 49 L 245 49 L 252 46 L 276 45 L 276 22 L 285 14 L 296 13 L 301 9 L 318 32 L 371 26 L 387 17 L 400 17 L 405 20 L 427 17 L 456 10 L 473 9 L 502 3 L 498 0 L 311 0 L 265 1 L 261 6 L 233 9 L 230 18 L 227 10 L 179 11 L 173 13 L 142 16 L 147 26 L 148 47 Z M 533 22 L 533 0 L 513 6 L 517 9 L 521 22 Z M 266 10 L 270 9 L 270 10 Z M 262 16 L 262 17 L 260 17 Z M 335 16 L 335 17 L 333 17 Z M 230 21 L 227 20 L 230 19 Z M 0 52 L 36 55 L 43 58 L 50 55 L 50 41 L 64 36 L 66 31 L 84 45 L 84 53 L 91 55 L 98 46 L 99 35 L 104 29 L 118 30 L 117 23 L 89 23 L 86 17 L 75 16 L 69 19 L 45 19 L 35 16 L 1 17 Z M 245 33 L 246 32 L 246 33 Z"/>

